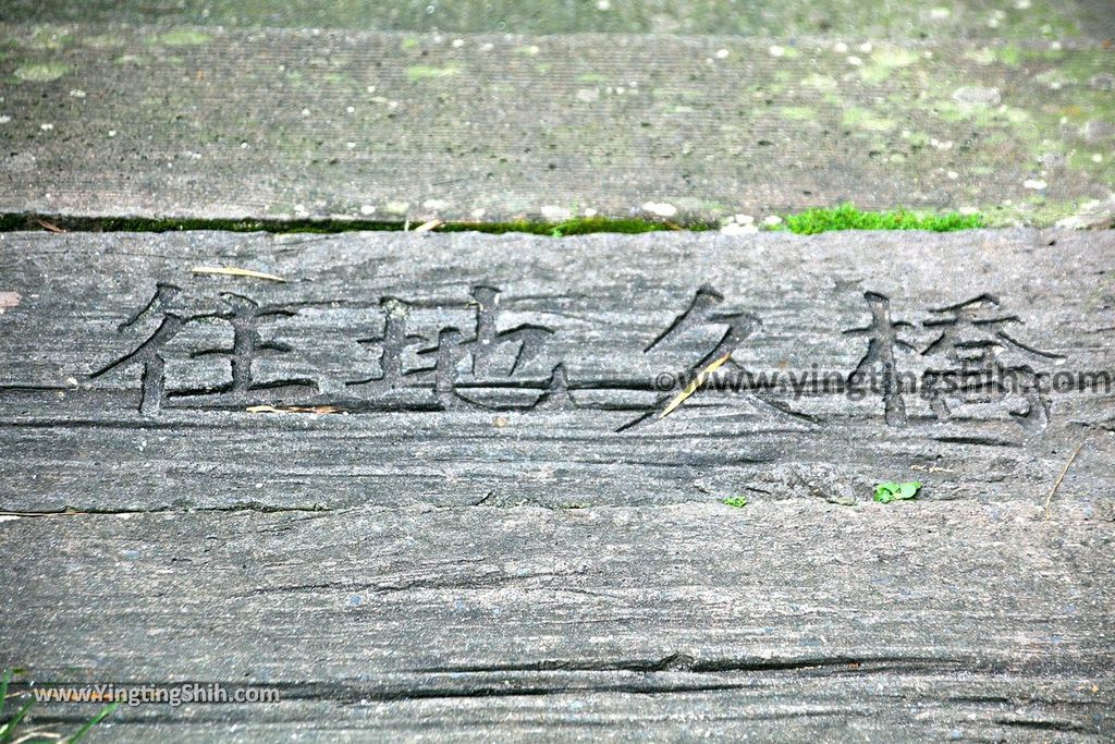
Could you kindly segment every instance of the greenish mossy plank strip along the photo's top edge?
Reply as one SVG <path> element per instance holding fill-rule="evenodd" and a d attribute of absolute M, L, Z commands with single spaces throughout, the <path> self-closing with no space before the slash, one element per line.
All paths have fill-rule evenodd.
<path fill-rule="evenodd" d="M 1027 40 L 1115 35 L 1115 13 L 1104 0 L 953 0 L 911 7 L 891 0 L 454 0 L 377 2 L 349 0 L 9 0 L 0 19 L 50 23 L 138 23 L 265 28 L 488 33 L 699 33 L 798 39 L 845 35 L 852 39 L 971 38 Z M 50 26 L 43 29 L 49 33 Z M 1106 35 L 1106 37 L 1105 37 Z"/>

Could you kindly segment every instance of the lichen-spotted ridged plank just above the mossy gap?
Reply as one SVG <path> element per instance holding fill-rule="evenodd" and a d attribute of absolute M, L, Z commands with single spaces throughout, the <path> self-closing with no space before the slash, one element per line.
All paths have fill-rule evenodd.
<path fill-rule="evenodd" d="M 852 200 L 1047 224 L 1115 183 L 1115 51 L 1089 37 L 0 33 L 9 213 L 717 221 Z"/>

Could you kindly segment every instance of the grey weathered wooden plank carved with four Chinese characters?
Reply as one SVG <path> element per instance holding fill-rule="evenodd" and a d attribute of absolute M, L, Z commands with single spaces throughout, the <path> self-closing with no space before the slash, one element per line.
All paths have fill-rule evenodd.
<path fill-rule="evenodd" d="M 1080 445 L 1059 501 L 1105 513 L 1113 247 L 1028 230 L 2 234 L 0 467 L 22 485 L 0 508 L 855 503 L 881 480 L 1032 504 Z M 213 264 L 288 281 L 192 273 Z M 855 330 L 873 307 L 892 345 L 885 325 Z M 891 346 L 917 392 L 881 374 Z M 972 354 L 985 383 L 1019 389 L 932 395 Z M 879 374 L 842 387 L 856 369 Z M 1044 392 L 1021 389 L 1035 375 Z"/>

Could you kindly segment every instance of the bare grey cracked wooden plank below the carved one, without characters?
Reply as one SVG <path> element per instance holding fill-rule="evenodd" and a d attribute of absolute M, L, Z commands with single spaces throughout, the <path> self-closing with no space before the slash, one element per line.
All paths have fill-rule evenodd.
<path fill-rule="evenodd" d="M 923 502 L 18 519 L 0 523 L 14 599 L 0 659 L 40 684 L 285 697 L 125 709 L 104 741 L 215 726 L 223 741 L 1101 741 L 1115 531 L 1069 514 Z"/>

